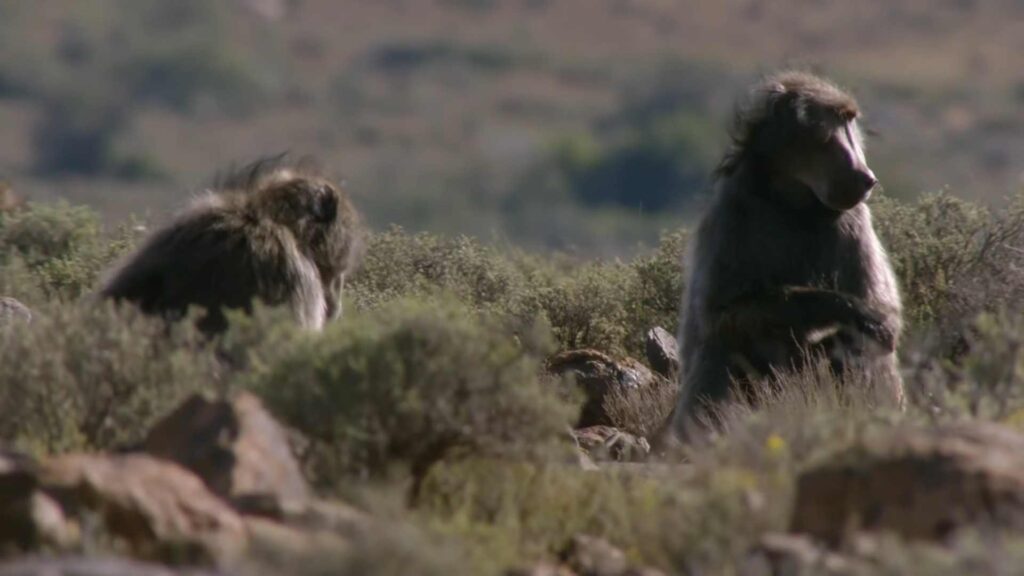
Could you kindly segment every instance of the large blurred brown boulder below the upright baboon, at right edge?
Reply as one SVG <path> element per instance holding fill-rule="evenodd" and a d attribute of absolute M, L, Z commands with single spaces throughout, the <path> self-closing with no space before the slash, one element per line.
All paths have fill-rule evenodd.
<path fill-rule="evenodd" d="M 791 529 L 835 546 L 858 531 L 940 540 L 975 524 L 1024 528 L 1024 436 L 995 424 L 859 442 L 801 475 Z"/>

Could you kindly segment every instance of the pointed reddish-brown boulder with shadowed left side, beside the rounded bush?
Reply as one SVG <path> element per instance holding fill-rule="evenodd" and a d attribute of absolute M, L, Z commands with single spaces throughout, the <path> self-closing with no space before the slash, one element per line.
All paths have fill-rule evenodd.
<path fill-rule="evenodd" d="M 193 470 L 246 513 L 280 517 L 309 500 L 288 433 L 248 393 L 193 396 L 154 426 L 142 450 Z"/>

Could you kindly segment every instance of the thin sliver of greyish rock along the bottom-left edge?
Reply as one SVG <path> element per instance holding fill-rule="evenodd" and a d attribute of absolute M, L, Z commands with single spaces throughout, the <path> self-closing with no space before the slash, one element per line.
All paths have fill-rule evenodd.
<path fill-rule="evenodd" d="M 0 564 L 0 576 L 214 576 L 120 558 L 35 557 Z"/>

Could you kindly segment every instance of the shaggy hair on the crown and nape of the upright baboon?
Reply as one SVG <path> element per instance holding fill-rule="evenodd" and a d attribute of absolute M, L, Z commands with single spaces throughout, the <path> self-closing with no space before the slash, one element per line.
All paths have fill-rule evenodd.
<path fill-rule="evenodd" d="M 781 143 L 771 141 L 780 134 L 817 129 L 836 119 L 853 120 L 859 114 L 853 96 L 818 76 L 797 71 L 769 76 L 737 108 L 729 131 L 731 143 L 715 175 L 731 175 L 752 154 Z"/>

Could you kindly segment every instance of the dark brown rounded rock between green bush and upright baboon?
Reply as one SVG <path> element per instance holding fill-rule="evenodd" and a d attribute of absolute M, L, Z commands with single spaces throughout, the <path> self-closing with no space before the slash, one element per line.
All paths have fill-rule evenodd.
<path fill-rule="evenodd" d="M 665 421 L 675 401 L 675 382 L 630 358 L 616 361 L 597 351 L 569 351 L 551 358 L 548 371 L 572 375 L 583 389 L 580 428 L 606 425 L 646 436 Z"/>

